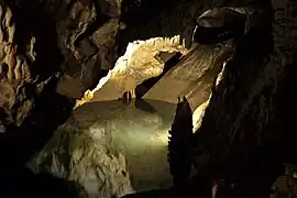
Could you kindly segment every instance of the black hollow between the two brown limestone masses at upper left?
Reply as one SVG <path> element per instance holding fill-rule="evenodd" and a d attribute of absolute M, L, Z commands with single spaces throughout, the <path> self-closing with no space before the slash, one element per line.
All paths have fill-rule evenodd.
<path fill-rule="evenodd" d="M 15 21 L 14 42 L 18 44 L 18 54 L 26 53 L 26 46 L 34 36 L 36 41 L 34 51 L 37 56 L 33 63 L 26 59 L 31 65 L 33 77 L 38 77 L 38 81 L 46 80 L 61 70 L 61 64 L 64 62 L 64 56 L 56 45 L 55 21 L 46 14 L 38 1 L 26 1 L 20 4 L 9 1 L 8 6 Z"/>

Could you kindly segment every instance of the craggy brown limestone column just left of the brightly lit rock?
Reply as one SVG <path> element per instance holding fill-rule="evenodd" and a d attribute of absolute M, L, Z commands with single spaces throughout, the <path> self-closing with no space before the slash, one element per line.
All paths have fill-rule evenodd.
<path fill-rule="evenodd" d="M 57 20 L 58 44 L 65 57 L 62 68 L 67 75 L 59 80 L 57 91 L 79 99 L 97 85 L 101 70 L 113 68 L 117 62 L 121 1 L 75 1 L 67 7 L 67 13 Z"/>

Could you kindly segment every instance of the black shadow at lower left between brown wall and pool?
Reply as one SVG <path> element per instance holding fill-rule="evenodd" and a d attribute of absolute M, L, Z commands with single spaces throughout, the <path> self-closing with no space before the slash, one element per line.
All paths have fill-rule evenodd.
<path fill-rule="evenodd" d="M 84 188 L 73 182 L 46 174 L 35 175 L 24 168 L 24 164 L 43 148 L 57 127 L 68 119 L 74 107 L 74 101 L 54 94 L 54 88 L 55 81 L 36 100 L 32 114 L 24 123 L 20 128 L 9 127 L 0 139 L 0 196 L 3 198 L 70 198 L 84 193 Z"/>

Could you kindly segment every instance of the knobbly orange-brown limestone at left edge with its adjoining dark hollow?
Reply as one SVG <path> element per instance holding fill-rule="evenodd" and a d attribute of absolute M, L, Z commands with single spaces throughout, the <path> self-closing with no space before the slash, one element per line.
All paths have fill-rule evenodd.
<path fill-rule="evenodd" d="M 0 3 L 0 120 L 4 125 L 21 125 L 46 81 L 57 75 L 59 56 L 51 37 L 52 23 L 40 11 L 33 2 L 23 7 L 2 1 Z M 25 20 L 30 21 L 28 29 L 22 26 Z M 43 28 L 38 24 L 41 21 Z M 44 31 L 50 36 L 46 41 L 48 43 L 44 42 Z M 43 46 L 40 42 L 44 42 Z M 45 46 L 50 56 L 45 54 Z M 46 63 L 41 64 L 45 59 Z M 47 67 L 47 64 L 52 67 Z M 41 69 L 41 66 L 44 68 Z"/>

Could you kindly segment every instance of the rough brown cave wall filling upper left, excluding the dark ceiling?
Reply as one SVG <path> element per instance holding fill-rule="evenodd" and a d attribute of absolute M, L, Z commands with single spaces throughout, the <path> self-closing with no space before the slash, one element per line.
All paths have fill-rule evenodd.
<path fill-rule="evenodd" d="M 118 58 L 120 1 L 1 1 L 1 124 L 21 125 L 45 85 L 80 98 Z M 52 89 L 51 91 L 55 91 Z"/>

